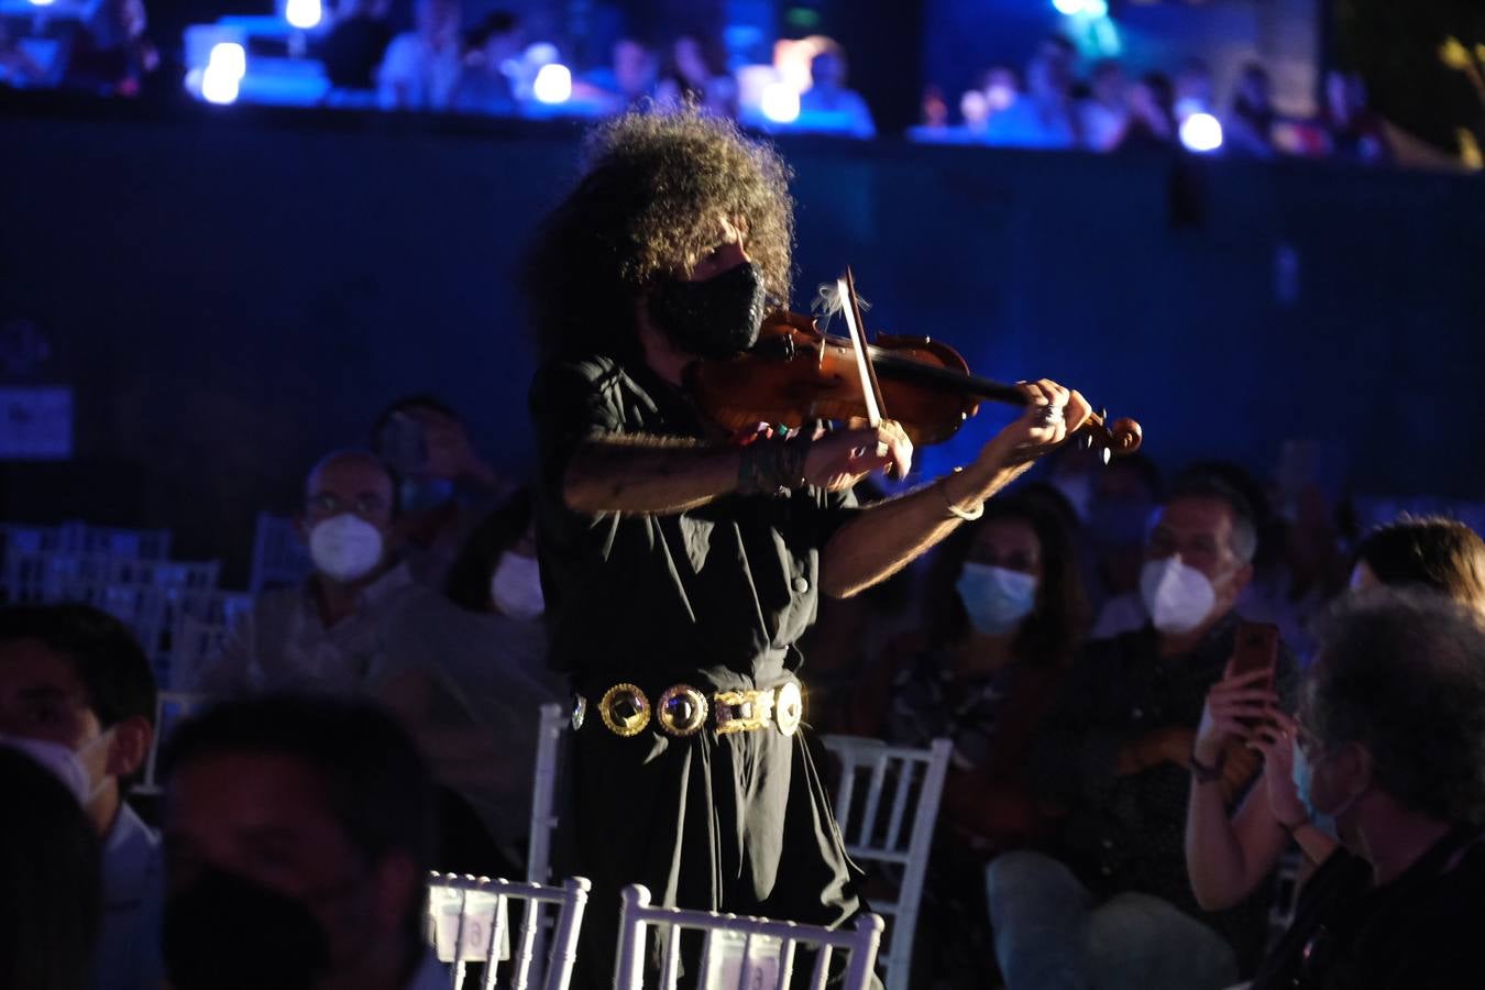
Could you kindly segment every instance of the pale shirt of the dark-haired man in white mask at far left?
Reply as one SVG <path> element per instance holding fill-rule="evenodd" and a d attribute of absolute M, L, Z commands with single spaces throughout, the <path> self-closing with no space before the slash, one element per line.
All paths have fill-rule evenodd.
<path fill-rule="evenodd" d="M 102 843 L 102 926 L 94 990 L 157 990 L 163 874 L 160 839 L 128 804 Z"/>

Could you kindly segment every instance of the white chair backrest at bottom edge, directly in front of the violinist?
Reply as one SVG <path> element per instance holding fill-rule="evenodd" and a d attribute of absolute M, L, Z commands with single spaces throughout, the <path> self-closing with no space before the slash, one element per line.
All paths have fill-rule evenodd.
<path fill-rule="evenodd" d="M 664 990 L 676 990 L 680 935 L 685 931 L 704 935 L 698 990 L 789 990 L 793 986 L 794 956 L 800 947 L 817 950 L 808 984 L 811 990 L 824 990 L 836 950 L 848 953 L 845 981 L 836 984 L 839 990 L 866 990 L 882 938 L 882 919 L 878 914 L 863 914 L 849 929 L 830 929 L 766 917 L 656 907 L 650 904 L 646 888 L 631 885 L 624 888 L 613 990 L 643 990 L 649 928 L 661 929 L 665 940 L 659 974 Z"/>

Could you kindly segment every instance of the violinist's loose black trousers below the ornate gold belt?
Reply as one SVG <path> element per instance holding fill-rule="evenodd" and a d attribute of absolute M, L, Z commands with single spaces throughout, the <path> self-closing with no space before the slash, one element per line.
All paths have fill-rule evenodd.
<path fill-rule="evenodd" d="M 564 874 L 593 882 L 575 987 L 613 986 L 630 883 L 655 904 L 811 925 L 864 910 L 803 729 L 674 738 L 652 724 L 625 739 L 594 715 L 573 744 Z M 796 966 L 800 986 L 805 977 Z"/>

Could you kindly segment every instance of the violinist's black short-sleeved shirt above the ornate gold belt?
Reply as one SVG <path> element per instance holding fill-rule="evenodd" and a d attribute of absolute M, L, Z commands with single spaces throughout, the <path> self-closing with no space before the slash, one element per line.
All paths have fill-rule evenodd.
<path fill-rule="evenodd" d="M 771 686 L 799 666 L 815 619 L 820 551 L 849 491 L 723 496 L 680 514 L 572 512 L 563 478 L 587 441 L 625 433 L 716 442 L 643 361 L 594 355 L 538 371 L 536 525 L 549 662 L 581 690 Z M 702 683 L 696 683 L 696 681 Z"/>

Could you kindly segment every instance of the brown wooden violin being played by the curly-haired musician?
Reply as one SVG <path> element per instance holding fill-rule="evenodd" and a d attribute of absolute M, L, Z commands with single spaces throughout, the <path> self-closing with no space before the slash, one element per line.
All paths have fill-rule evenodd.
<path fill-rule="evenodd" d="M 851 295 L 854 306 L 854 289 Z M 872 408 L 870 396 L 915 447 L 953 436 L 982 401 L 1028 404 L 1025 392 L 971 374 L 958 350 L 928 337 L 878 334 L 873 344 L 863 343 L 869 373 L 860 371 L 858 338 L 854 325 L 851 338 L 830 337 L 815 318 L 778 310 L 763 321 L 750 350 L 693 364 L 688 387 L 699 410 L 731 430 L 757 423 L 793 430 L 817 420 L 861 419 Z M 1105 463 L 1139 450 L 1139 423 L 1118 419 L 1108 424 L 1106 419 L 1106 413 L 1094 413 L 1078 430 L 1084 448 L 1099 448 Z"/>

